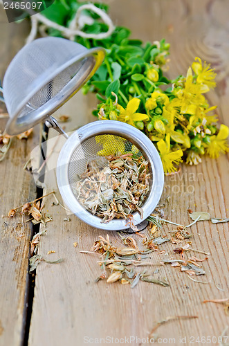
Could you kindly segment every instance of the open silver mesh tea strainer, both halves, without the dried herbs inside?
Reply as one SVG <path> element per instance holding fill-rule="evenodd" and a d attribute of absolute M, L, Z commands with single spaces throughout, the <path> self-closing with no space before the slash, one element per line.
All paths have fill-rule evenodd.
<path fill-rule="evenodd" d="M 106 143 L 106 155 L 117 154 L 123 145 L 126 152 L 143 155 L 149 162 L 152 179 L 141 206 L 143 219 L 138 212 L 133 213 L 135 224 L 143 223 L 163 191 L 163 165 L 153 143 L 140 130 L 115 120 L 91 122 L 68 137 L 51 116 L 91 78 L 103 58 L 102 48 L 88 50 L 57 37 L 36 39 L 22 48 L 8 66 L 3 80 L 3 95 L 10 116 L 6 130 L 10 135 L 19 134 L 43 120 L 48 127 L 64 134 L 68 139 L 57 161 L 57 185 L 66 206 L 93 227 L 125 230 L 129 228 L 127 220 L 113 219 L 104 224 L 100 217 L 86 210 L 77 201 L 74 186 L 87 163 L 101 157 L 103 143 Z"/>

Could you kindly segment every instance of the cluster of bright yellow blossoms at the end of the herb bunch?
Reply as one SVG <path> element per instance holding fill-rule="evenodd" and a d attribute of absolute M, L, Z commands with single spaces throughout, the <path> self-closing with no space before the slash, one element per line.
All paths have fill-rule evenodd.
<path fill-rule="evenodd" d="M 152 73 L 154 69 L 155 66 L 138 75 L 148 73 L 147 79 L 157 78 Z M 162 75 L 162 69 L 158 69 Z M 149 71 L 152 76 L 149 76 Z M 127 98 L 123 105 L 120 89 L 116 87 L 113 90 L 118 96 L 114 91 L 107 95 L 107 99 L 98 105 L 98 117 L 127 122 L 143 131 L 156 145 L 165 173 L 174 172 L 183 159 L 190 165 L 197 165 L 203 154 L 217 158 L 219 154 L 228 152 L 226 139 L 229 129 L 223 124 L 218 129 L 217 116 L 214 113 L 209 115 L 217 107 L 210 107 L 204 94 L 214 88 L 215 76 L 210 65 L 196 57 L 186 76 L 163 82 L 167 84 L 165 91 L 159 87 L 161 82 L 152 82 L 154 87 L 146 89 L 145 86 L 147 91 L 143 92 L 142 78 L 134 83 L 141 93 L 136 91 L 134 95 L 127 95 L 121 91 Z M 132 87 L 131 80 L 128 85 Z M 114 96 L 116 100 L 113 100 Z"/>

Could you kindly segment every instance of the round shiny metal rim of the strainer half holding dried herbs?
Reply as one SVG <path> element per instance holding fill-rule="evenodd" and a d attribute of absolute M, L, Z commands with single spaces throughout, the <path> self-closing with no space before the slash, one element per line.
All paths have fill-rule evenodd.
<path fill-rule="evenodd" d="M 145 201 L 142 207 L 144 219 L 153 212 L 161 198 L 164 185 L 163 165 L 156 147 L 152 141 L 143 134 L 143 132 L 136 129 L 136 127 L 116 120 L 99 120 L 90 122 L 71 134 L 68 140 L 66 140 L 66 143 L 64 143 L 57 161 L 57 185 L 66 206 L 68 206 L 68 208 L 79 217 L 79 219 L 95 228 L 103 230 L 124 230 L 129 228 L 127 220 L 114 219 L 109 221 L 107 224 L 102 224 L 102 219 L 100 217 L 96 217 L 88 210 L 85 210 L 85 208 L 75 198 L 69 182 L 69 163 L 75 149 L 80 145 L 80 143 L 84 142 L 84 140 L 99 134 L 113 134 L 117 136 L 131 137 L 133 138 L 134 143 L 136 143 L 136 146 L 140 147 L 143 154 L 146 154 L 148 157 L 152 166 L 153 184 L 149 196 L 147 197 L 147 201 Z M 139 224 L 143 221 L 143 219 L 140 219 L 138 212 L 135 212 L 133 216 L 135 224 Z"/>

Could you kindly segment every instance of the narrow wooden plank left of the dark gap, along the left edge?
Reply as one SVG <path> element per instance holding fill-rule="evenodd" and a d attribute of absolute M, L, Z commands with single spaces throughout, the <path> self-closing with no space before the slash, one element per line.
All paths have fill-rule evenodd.
<path fill-rule="evenodd" d="M 28 25 L 6 24 L 0 8 L 0 74 L 19 48 L 24 45 Z M 2 107 L 2 105 L 0 106 Z M 0 132 L 6 122 L 1 120 Z M 35 131 L 36 133 L 36 131 Z M 12 208 L 35 198 L 35 183 L 23 170 L 30 156 L 30 149 L 39 143 L 39 136 L 30 139 L 13 139 L 12 147 L 0 163 L 0 214 L 8 215 Z M 27 217 L 18 215 L 12 219 L 0 218 L 0 345 L 19 346 L 23 343 L 28 290 L 28 251 L 30 224 Z"/>

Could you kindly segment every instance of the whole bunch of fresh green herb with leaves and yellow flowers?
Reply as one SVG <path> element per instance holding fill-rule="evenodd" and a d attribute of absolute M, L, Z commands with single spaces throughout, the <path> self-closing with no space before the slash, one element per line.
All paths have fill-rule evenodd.
<path fill-rule="evenodd" d="M 74 0 L 66 5 L 56 0 L 44 15 L 68 27 L 83 3 L 87 1 Z M 104 3 L 94 5 L 109 10 Z M 107 30 L 95 13 L 85 10 L 83 14 L 81 29 L 85 33 Z M 53 28 L 47 33 L 62 36 Z M 181 161 L 197 165 L 203 154 L 217 158 L 228 152 L 229 129 L 226 125 L 217 127 L 217 116 L 212 113 L 216 106 L 210 107 L 205 98 L 216 86 L 214 69 L 196 57 L 186 76 L 170 81 L 165 77 L 170 44 L 165 39 L 143 44 L 130 39 L 130 34 L 128 28 L 116 27 L 102 40 L 75 37 L 86 48 L 102 46 L 107 51 L 102 66 L 83 88 L 84 93 L 96 93 L 101 102 L 93 112 L 95 116 L 138 127 L 156 145 L 165 172 L 174 172 Z"/>

